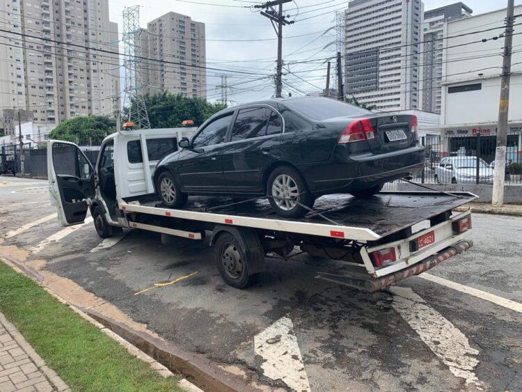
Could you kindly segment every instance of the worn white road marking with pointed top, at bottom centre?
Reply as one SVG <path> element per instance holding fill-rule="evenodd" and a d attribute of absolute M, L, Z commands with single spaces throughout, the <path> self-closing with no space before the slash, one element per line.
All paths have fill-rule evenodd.
<path fill-rule="evenodd" d="M 255 335 L 254 352 L 265 359 L 261 365 L 265 376 L 281 379 L 295 391 L 310 391 L 294 324 L 289 317 L 281 317 Z"/>

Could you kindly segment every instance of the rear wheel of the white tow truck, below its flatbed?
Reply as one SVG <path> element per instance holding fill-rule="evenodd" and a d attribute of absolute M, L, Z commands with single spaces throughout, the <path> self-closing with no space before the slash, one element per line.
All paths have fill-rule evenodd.
<path fill-rule="evenodd" d="M 233 288 L 247 288 L 258 281 L 259 274 L 248 274 L 248 258 L 234 235 L 223 233 L 217 237 L 214 258 L 221 278 Z"/>

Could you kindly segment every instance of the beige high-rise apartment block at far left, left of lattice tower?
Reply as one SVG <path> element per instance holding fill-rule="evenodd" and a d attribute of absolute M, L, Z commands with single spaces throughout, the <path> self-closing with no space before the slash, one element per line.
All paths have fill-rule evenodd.
<path fill-rule="evenodd" d="M 119 106 L 118 55 L 84 48 L 118 53 L 108 0 L 0 0 L 0 17 L 0 107 L 59 123 Z"/>

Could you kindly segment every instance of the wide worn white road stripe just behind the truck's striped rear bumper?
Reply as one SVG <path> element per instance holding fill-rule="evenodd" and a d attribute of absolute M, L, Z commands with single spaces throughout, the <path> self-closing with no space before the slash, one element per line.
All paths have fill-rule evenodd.
<path fill-rule="evenodd" d="M 417 332 L 429 350 L 450 368 L 453 375 L 482 389 L 483 384 L 474 372 L 479 363 L 475 355 L 479 352 L 470 347 L 466 335 L 411 288 L 393 287 L 390 292 L 394 294 L 392 306 L 395 311 Z"/>

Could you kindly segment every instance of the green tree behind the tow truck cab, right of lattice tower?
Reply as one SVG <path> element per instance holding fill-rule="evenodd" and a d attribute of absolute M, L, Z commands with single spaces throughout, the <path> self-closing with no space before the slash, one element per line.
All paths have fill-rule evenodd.
<path fill-rule="evenodd" d="M 226 105 L 212 104 L 203 98 L 189 98 L 167 91 L 147 94 L 143 98 L 151 128 L 181 127 L 184 120 L 193 120 L 194 125 L 201 125 L 214 113 L 226 108 Z M 124 108 L 123 118 L 127 113 L 128 108 Z"/>

